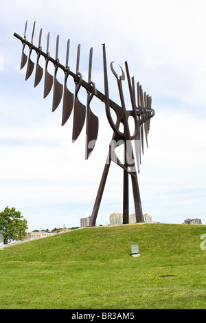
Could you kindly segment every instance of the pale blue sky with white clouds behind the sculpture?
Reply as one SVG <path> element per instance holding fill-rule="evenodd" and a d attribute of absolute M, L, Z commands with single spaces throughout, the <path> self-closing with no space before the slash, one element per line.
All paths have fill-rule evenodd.
<path fill-rule="evenodd" d="M 152 97 L 155 117 L 150 122 L 148 148 L 138 175 L 143 213 L 152 221 L 183 223 L 201 219 L 206 224 L 206 2 L 205 0 L 2 1 L 0 12 L 0 212 L 8 205 L 20 210 L 28 230 L 80 226 L 91 215 L 113 131 L 98 98 L 91 110 L 99 118 L 95 149 L 84 159 L 85 125 L 72 143 L 73 113 L 61 126 L 62 102 L 52 113 L 52 91 L 43 98 L 44 80 L 34 88 L 35 71 L 25 81 L 20 70 L 22 45 L 14 32 L 34 45 L 43 28 L 42 47 L 65 65 L 88 78 L 89 49 L 93 47 L 92 80 L 104 93 L 102 43 L 106 44 L 111 100 L 119 104 L 117 83 L 109 63 L 128 62 L 130 76 Z M 25 50 L 28 54 L 28 49 Z M 36 54 L 32 53 L 36 64 Z M 42 67 L 45 60 L 40 60 Z M 54 66 L 49 65 L 54 74 Z M 58 71 L 58 80 L 63 81 Z M 67 83 L 74 92 L 74 82 Z M 126 109 L 131 109 L 124 82 Z M 79 98 L 87 102 L 87 92 Z M 121 152 L 119 152 L 121 159 Z M 122 212 L 122 169 L 111 164 L 97 225 L 107 225 L 109 214 Z M 130 214 L 134 212 L 130 187 Z"/>

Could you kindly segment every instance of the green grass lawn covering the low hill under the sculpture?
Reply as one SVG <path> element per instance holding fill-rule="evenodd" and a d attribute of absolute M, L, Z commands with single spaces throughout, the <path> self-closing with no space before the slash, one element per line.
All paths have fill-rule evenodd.
<path fill-rule="evenodd" d="M 151 223 L 5 247 L 0 309 L 206 309 L 201 234 L 204 225 Z M 130 254 L 133 244 L 139 258 Z"/>

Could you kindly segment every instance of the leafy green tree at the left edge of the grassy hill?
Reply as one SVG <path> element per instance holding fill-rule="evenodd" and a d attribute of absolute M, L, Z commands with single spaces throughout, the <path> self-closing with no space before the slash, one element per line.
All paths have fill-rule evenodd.
<path fill-rule="evenodd" d="M 0 212 L 0 234 L 3 235 L 4 243 L 8 243 L 9 239 L 23 240 L 27 228 L 27 220 L 15 208 L 10 209 L 7 205 Z"/>

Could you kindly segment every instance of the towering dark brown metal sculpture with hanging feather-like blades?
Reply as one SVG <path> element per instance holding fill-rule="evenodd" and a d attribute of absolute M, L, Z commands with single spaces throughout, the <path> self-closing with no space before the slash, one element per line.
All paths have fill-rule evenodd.
<path fill-rule="evenodd" d="M 53 92 L 53 106 L 52 111 L 55 111 L 60 101 L 62 100 L 62 126 L 69 119 L 71 112 L 73 110 L 73 132 L 72 132 L 72 142 L 75 142 L 82 132 L 84 122 L 86 120 L 86 152 L 85 158 L 88 159 L 91 155 L 93 148 L 95 147 L 95 142 L 98 137 L 98 117 L 91 111 L 90 102 L 95 96 L 100 99 L 105 104 L 106 109 L 106 117 L 108 118 L 108 122 L 113 129 L 113 137 L 111 143 L 108 148 L 108 156 L 106 158 L 106 164 L 104 166 L 104 171 L 102 174 L 102 179 L 100 181 L 100 186 L 98 190 L 97 197 L 95 199 L 95 204 L 93 207 L 93 212 L 91 214 L 91 221 L 89 223 L 90 226 L 95 225 L 95 221 L 98 216 L 98 210 L 100 208 L 100 203 L 102 199 L 102 194 L 104 192 L 104 186 L 106 183 L 106 178 L 108 175 L 108 170 L 111 165 L 111 161 L 115 162 L 119 167 L 123 169 L 124 173 L 124 184 L 123 184 L 123 223 L 128 223 L 128 210 L 129 210 L 129 194 L 128 194 L 128 177 L 130 175 L 132 187 L 133 187 L 133 199 L 135 205 L 135 214 L 136 214 L 136 222 L 143 222 L 143 214 L 141 209 L 141 199 L 139 195 L 139 186 L 137 181 L 137 171 L 136 166 L 139 172 L 139 164 L 141 164 L 141 153 L 144 154 L 144 136 L 146 137 L 146 144 L 148 146 L 148 133 L 150 130 L 150 119 L 155 115 L 155 111 L 152 109 L 152 98 L 143 92 L 141 85 L 139 82 L 135 85 L 134 77 L 130 78 L 130 73 L 128 69 L 128 63 L 125 62 L 126 69 L 126 77 L 128 81 L 128 91 L 130 93 L 130 101 L 131 101 L 131 110 L 126 109 L 126 105 L 124 102 L 124 93 L 122 88 L 122 82 L 125 80 L 125 74 L 122 67 L 120 67 L 122 71 L 122 75 L 118 76 L 113 63 L 111 63 L 111 71 L 117 80 L 117 87 L 119 90 L 119 97 L 121 101 L 121 106 L 113 102 L 109 98 L 108 93 L 108 75 L 107 75 L 107 66 L 106 66 L 106 48 L 105 44 L 102 44 L 103 49 L 103 66 L 104 66 L 104 94 L 95 89 L 95 83 L 91 80 L 91 69 L 92 69 L 92 58 L 93 58 L 93 48 L 90 49 L 89 54 L 89 77 L 86 82 L 82 78 L 82 74 L 79 71 L 79 63 L 80 63 L 80 45 L 78 45 L 77 52 L 77 63 L 76 63 L 76 73 L 73 73 L 68 65 L 69 60 L 69 44 L 70 41 L 67 41 L 67 54 L 66 54 L 66 63 L 65 65 L 60 64 L 58 59 L 58 43 L 59 36 L 56 38 L 56 58 L 52 58 L 49 55 L 49 33 L 47 35 L 47 52 L 43 52 L 41 47 L 41 36 L 42 30 L 39 33 L 39 41 L 38 47 L 33 44 L 34 30 L 35 30 L 35 22 L 32 31 L 32 40 L 31 42 L 27 41 L 26 37 L 27 30 L 27 22 L 25 24 L 25 33 L 23 38 L 18 34 L 14 33 L 14 36 L 18 38 L 23 44 L 23 50 L 21 55 L 21 69 L 27 63 L 27 71 L 25 80 L 30 78 L 32 72 L 34 71 L 34 62 L 31 60 L 32 51 L 36 52 L 37 60 L 36 60 L 36 74 L 34 80 L 34 87 L 36 87 L 41 79 L 43 78 L 43 68 L 39 65 L 39 58 L 43 56 L 45 58 L 45 84 L 44 84 L 44 93 L 43 97 L 46 98 L 49 92 L 54 87 Z M 25 54 L 25 46 L 28 46 L 30 49 L 29 55 Z M 47 69 L 48 63 L 52 62 L 54 64 L 54 76 L 49 74 Z M 60 84 L 56 78 L 56 74 L 58 69 L 62 69 L 65 73 L 65 82 L 64 85 Z M 75 93 L 71 93 L 67 88 L 67 79 L 71 76 L 75 82 Z M 87 91 L 87 106 L 82 104 L 78 98 L 78 92 L 80 87 L 86 89 Z M 137 93 L 137 97 L 136 97 Z M 117 116 L 116 122 L 113 122 L 113 118 L 111 115 L 111 109 L 115 111 Z M 132 117 L 135 122 L 135 131 L 131 135 L 128 118 Z M 120 124 L 123 125 L 124 131 L 119 130 Z M 133 153 L 133 145 L 132 142 L 135 142 L 135 157 L 136 163 Z M 124 163 L 119 161 L 117 155 L 115 153 L 115 148 L 119 145 L 124 145 Z"/>

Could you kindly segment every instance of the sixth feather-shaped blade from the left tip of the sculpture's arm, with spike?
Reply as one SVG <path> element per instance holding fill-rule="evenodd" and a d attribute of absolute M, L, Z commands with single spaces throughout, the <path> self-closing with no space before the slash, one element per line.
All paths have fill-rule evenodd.
<path fill-rule="evenodd" d="M 69 45 L 70 41 L 67 41 L 67 55 L 66 55 L 66 67 L 67 72 L 65 73 L 65 85 L 64 85 L 64 94 L 63 94 L 63 108 L 62 108 L 62 126 L 67 122 L 71 115 L 73 109 L 73 93 L 67 88 L 67 78 L 69 77 Z"/>

